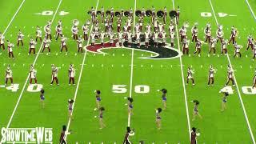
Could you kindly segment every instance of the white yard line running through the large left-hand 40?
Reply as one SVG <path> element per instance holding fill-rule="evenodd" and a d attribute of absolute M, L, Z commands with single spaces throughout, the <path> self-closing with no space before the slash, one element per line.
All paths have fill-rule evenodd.
<path fill-rule="evenodd" d="M 54 17 L 51 19 L 52 22 L 54 21 L 54 18 L 56 17 L 56 14 L 57 14 L 57 12 L 58 12 L 59 6 L 61 6 L 61 3 L 62 3 L 62 0 L 60 0 L 59 3 L 58 3 L 58 7 L 57 7 L 57 9 L 56 9 L 56 11 L 55 11 Z M 35 62 L 37 62 L 37 60 L 38 60 L 38 56 L 39 56 L 39 54 L 40 54 L 41 49 L 42 49 L 42 45 L 40 46 L 40 48 L 39 48 L 39 50 L 38 50 L 38 54 L 36 55 L 36 57 L 35 57 L 35 59 L 34 59 L 33 66 L 34 66 Z M 21 94 L 19 94 L 18 102 L 16 103 L 16 105 L 15 105 L 15 107 L 14 107 L 14 111 L 13 111 L 13 113 L 12 113 L 11 116 L 10 116 L 10 120 L 9 120 L 7 126 L 6 126 L 6 129 L 9 128 L 10 123 L 12 122 L 12 119 L 13 119 L 14 114 L 15 114 L 17 108 L 18 108 L 18 104 L 19 104 L 19 102 L 20 102 L 21 99 L 22 99 L 22 94 L 24 93 L 24 90 L 25 90 L 25 88 L 26 88 L 26 83 L 28 82 L 29 78 L 30 78 L 30 74 L 28 74 L 28 76 L 27 76 L 27 78 L 26 78 L 26 81 L 25 81 L 25 83 L 24 83 L 24 86 L 22 87 L 22 92 L 21 92 Z M 2 142 L 0 142 L 0 144 L 2 144 Z"/>

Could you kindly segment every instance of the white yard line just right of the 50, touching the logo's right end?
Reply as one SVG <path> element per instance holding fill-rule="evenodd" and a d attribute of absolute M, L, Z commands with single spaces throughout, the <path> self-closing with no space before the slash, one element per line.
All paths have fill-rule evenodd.
<path fill-rule="evenodd" d="M 174 0 L 173 1 L 173 8 L 175 10 L 175 4 L 174 4 Z M 175 23 L 176 23 L 176 18 L 175 18 Z M 178 42 L 178 50 L 181 50 L 180 45 L 179 45 L 179 38 L 178 38 L 178 26 L 176 25 L 175 27 L 176 29 L 176 34 L 177 34 L 177 42 Z M 186 86 L 185 86 L 185 80 L 184 80 L 184 72 L 183 72 L 183 64 L 182 64 L 182 57 L 179 57 L 179 61 L 180 61 L 180 66 L 181 66 L 181 70 L 182 70 L 182 84 L 183 84 L 183 93 L 184 93 L 184 99 L 185 99 L 185 106 L 186 106 L 186 119 L 187 119 L 187 125 L 188 125 L 188 132 L 190 135 L 190 130 L 191 130 L 191 126 L 190 126 L 190 114 L 189 114 L 189 108 L 188 108 L 188 104 L 187 104 L 187 97 L 186 97 Z M 191 135 L 190 135 L 191 138 Z"/>

